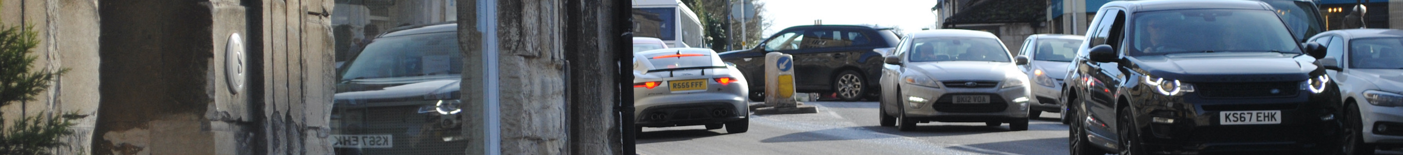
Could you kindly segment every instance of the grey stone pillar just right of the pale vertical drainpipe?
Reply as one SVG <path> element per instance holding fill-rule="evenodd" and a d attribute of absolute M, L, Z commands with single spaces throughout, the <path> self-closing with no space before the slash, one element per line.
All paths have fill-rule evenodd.
<path fill-rule="evenodd" d="M 560 0 L 497 1 L 501 151 L 565 154 L 565 82 Z M 494 68 L 488 68 L 494 70 Z M 490 148 L 491 149 L 491 148 Z"/>

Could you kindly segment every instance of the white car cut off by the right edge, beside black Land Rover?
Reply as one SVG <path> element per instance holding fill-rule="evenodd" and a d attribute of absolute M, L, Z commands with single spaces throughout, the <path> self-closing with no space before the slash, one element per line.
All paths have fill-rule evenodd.
<path fill-rule="evenodd" d="M 1403 31 L 1326 31 L 1309 40 L 1326 46 L 1320 64 L 1340 84 L 1345 154 L 1403 147 Z"/>

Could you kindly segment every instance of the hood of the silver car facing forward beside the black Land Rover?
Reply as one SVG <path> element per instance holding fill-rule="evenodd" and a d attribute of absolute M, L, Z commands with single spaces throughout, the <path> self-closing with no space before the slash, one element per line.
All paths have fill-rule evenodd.
<path fill-rule="evenodd" d="M 913 61 L 913 70 L 936 81 L 1003 81 L 1009 73 L 1019 73 L 1007 61 Z"/>

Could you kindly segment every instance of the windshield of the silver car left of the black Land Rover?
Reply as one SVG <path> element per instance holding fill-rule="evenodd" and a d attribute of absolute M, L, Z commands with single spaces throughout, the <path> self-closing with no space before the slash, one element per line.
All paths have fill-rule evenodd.
<path fill-rule="evenodd" d="M 1009 52 L 991 38 L 916 38 L 911 61 L 1010 61 Z"/>

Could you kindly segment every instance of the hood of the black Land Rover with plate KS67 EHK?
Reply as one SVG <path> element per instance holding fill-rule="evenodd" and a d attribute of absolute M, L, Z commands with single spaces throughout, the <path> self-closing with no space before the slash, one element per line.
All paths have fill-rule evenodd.
<path fill-rule="evenodd" d="M 1219 52 L 1141 56 L 1131 59 L 1150 75 L 1188 82 L 1273 82 L 1305 81 L 1323 74 L 1313 59 L 1294 53 Z"/>

